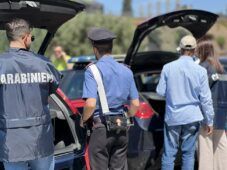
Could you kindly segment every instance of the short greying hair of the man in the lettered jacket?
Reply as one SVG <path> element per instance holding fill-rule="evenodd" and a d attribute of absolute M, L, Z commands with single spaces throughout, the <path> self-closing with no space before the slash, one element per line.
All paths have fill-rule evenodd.
<path fill-rule="evenodd" d="M 15 41 L 32 31 L 28 21 L 14 18 L 5 24 L 6 35 L 9 41 Z"/>

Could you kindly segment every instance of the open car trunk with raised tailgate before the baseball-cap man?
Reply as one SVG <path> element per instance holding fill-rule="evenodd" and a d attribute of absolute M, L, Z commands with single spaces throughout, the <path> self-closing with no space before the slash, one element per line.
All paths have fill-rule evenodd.
<path fill-rule="evenodd" d="M 164 51 L 138 52 L 146 36 L 157 28 L 182 27 L 195 38 L 203 37 L 216 22 L 218 15 L 202 10 L 181 10 L 151 18 L 138 25 L 128 49 L 125 63 L 131 66 L 140 93 L 146 97 L 153 109 L 161 116 L 165 113 L 165 99 L 156 94 L 163 66 L 179 58 L 179 54 Z"/>

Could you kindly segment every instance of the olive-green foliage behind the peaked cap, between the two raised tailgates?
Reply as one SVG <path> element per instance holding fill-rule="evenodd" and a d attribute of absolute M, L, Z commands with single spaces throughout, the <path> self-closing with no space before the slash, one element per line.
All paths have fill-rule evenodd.
<path fill-rule="evenodd" d="M 50 56 L 51 48 L 56 44 L 62 45 L 71 56 L 92 54 L 92 46 L 87 39 L 87 31 L 91 27 L 104 27 L 117 35 L 113 48 L 115 54 L 127 52 L 135 29 L 132 19 L 127 17 L 81 13 L 58 30 L 46 54 Z"/>

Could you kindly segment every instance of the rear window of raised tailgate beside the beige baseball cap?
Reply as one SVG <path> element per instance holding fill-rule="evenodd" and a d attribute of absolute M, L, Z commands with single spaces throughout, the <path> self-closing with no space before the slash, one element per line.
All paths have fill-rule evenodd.
<path fill-rule="evenodd" d="M 163 26 L 151 31 L 142 41 L 139 52 L 148 51 L 170 51 L 176 52 L 180 39 L 190 34 L 184 28 L 169 28 Z"/>

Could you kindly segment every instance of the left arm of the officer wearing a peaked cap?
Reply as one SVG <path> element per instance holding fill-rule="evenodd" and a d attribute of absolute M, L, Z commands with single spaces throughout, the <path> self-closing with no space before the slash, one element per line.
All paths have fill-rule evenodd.
<path fill-rule="evenodd" d="M 97 99 L 97 93 L 98 93 L 98 86 L 90 69 L 87 69 L 85 71 L 84 76 L 85 77 L 84 77 L 82 98 L 85 99 L 85 106 L 84 106 L 83 116 L 81 119 L 81 125 L 85 123 L 94 113 L 96 108 L 96 99 Z"/>

